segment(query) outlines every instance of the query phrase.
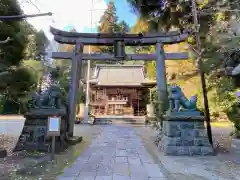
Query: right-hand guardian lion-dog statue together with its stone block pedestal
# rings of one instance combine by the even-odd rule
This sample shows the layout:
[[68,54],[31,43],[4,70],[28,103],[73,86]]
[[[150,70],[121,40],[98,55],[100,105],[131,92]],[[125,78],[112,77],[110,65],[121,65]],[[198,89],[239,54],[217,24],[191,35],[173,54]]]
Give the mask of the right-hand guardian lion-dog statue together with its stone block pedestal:
[[213,155],[204,126],[204,116],[196,108],[197,96],[187,100],[178,86],[169,87],[170,108],[162,128],[159,148],[165,155]]

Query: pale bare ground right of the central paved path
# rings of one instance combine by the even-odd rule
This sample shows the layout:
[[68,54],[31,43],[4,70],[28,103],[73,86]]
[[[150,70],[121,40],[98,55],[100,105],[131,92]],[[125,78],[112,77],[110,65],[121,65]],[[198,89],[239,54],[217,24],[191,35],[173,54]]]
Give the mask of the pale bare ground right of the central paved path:
[[[224,131],[219,129],[217,133]],[[240,143],[233,142],[235,149],[217,156],[165,156],[153,143],[158,134],[156,130],[143,126],[135,128],[135,132],[154,160],[160,161],[168,180],[240,180],[240,166],[232,161],[240,159]],[[215,129],[213,135],[216,135]]]

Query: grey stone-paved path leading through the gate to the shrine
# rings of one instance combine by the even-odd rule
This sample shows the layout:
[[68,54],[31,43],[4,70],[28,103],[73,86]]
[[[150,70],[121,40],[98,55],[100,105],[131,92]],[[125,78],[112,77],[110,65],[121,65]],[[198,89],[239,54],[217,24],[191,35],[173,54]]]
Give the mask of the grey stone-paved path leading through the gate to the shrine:
[[105,126],[57,180],[166,180],[133,128]]

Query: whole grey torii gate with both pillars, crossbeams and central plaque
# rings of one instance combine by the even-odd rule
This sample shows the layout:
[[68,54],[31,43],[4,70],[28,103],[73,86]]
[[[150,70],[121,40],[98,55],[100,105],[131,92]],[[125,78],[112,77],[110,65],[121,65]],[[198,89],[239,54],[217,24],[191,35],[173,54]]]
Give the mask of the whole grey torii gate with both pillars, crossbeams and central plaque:
[[[118,61],[118,60],[156,60],[156,77],[158,101],[161,110],[167,107],[167,80],[165,60],[185,60],[188,53],[164,53],[164,44],[175,44],[185,41],[188,33],[179,32],[157,33],[157,34],[106,34],[106,33],[77,33],[66,32],[50,27],[54,40],[61,44],[75,45],[75,51],[53,52],[53,59],[71,59],[71,86],[69,93],[69,136],[73,135],[73,126],[76,114],[76,95],[79,87],[81,67],[83,60]],[[83,46],[114,46],[114,55],[111,54],[83,54]],[[125,46],[156,46],[154,54],[125,54]]]

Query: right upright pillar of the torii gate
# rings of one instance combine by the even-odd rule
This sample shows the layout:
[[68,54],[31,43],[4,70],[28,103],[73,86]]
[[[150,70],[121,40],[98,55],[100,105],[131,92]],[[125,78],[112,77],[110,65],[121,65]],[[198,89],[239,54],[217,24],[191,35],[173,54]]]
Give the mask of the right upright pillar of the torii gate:
[[156,44],[156,78],[157,78],[157,95],[159,103],[159,113],[163,114],[168,108],[167,98],[167,79],[165,68],[165,55],[163,44],[158,42]]

